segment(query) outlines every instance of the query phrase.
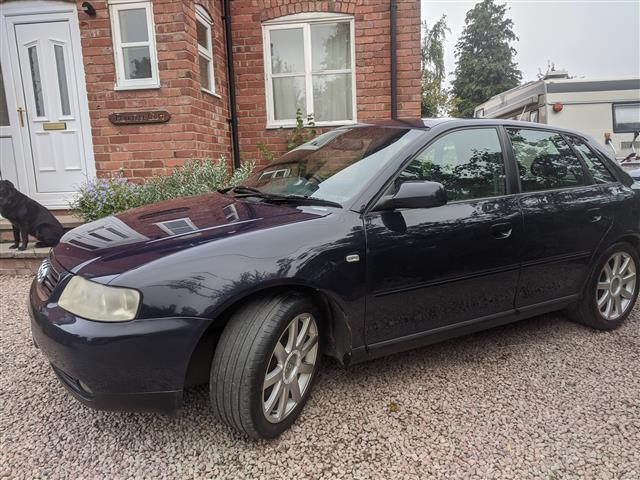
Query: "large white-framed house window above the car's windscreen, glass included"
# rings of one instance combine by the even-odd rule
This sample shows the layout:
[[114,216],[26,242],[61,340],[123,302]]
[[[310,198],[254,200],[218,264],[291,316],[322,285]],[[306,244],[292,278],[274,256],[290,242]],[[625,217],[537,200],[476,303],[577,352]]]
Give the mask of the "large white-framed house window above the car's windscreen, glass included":
[[354,23],[350,15],[305,13],[263,26],[270,127],[356,120]]

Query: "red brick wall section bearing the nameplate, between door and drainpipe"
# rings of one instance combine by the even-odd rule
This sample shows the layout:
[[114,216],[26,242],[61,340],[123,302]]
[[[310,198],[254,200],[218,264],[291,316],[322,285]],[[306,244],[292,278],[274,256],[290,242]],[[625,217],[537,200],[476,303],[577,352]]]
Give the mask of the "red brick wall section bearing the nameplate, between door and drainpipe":
[[[85,14],[77,0],[91,128],[99,176],[122,169],[142,179],[167,172],[188,158],[230,158],[227,78],[221,2],[200,2],[214,20],[216,89],[220,98],[200,90],[194,2],[154,0],[156,46],[161,87],[116,91],[109,8],[92,1],[97,15]],[[113,112],[167,110],[165,124],[113,125]]]

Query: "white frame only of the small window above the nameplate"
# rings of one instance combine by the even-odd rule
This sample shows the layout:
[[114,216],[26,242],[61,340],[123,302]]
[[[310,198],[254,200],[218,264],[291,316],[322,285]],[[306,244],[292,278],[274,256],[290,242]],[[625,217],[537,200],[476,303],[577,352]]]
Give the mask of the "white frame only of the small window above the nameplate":
[[[147,32],[149,39],[146,42],[122,41],[120,35],[120,15],[123,10],[143,8],[147,14]],[[109,0],[109,16],[111,17],[111,35],[113,40],[113,56],[116,64],[115,90],[143,90],[160,88],[160,75],[158,73],[158,52],[156,50],[156,29],[153,20],[153,3],[149,0]],[[126,79],[124,68],[125,47],[149,47],[151,59],[151,78]]]

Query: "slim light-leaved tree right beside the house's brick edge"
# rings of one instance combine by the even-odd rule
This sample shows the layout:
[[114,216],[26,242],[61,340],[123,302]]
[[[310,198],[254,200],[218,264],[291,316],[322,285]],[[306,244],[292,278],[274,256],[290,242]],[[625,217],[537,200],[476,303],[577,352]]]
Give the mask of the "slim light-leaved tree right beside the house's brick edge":
[[427,22],[422,22],[424,37],[422,38],[422,98],[421,113],[423,117],[437,117],[447,109],[449,95],[442,88],[444,80],[444,40],[447,33],[447,16],[431,28]]

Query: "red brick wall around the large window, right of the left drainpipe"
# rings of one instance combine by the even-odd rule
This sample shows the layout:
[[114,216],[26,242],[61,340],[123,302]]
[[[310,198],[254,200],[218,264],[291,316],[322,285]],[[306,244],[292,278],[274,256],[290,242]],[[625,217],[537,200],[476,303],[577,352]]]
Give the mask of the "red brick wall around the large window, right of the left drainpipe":
[[[391,117],[389,0],[234,0],[233,54],[242,159],[260,158],[257,144],[285,150],[288,129],[266,130],[262,22],[301,12],[355,17],[359,121]],[[420,116],[420,2],[398,0],[398,117]]]

